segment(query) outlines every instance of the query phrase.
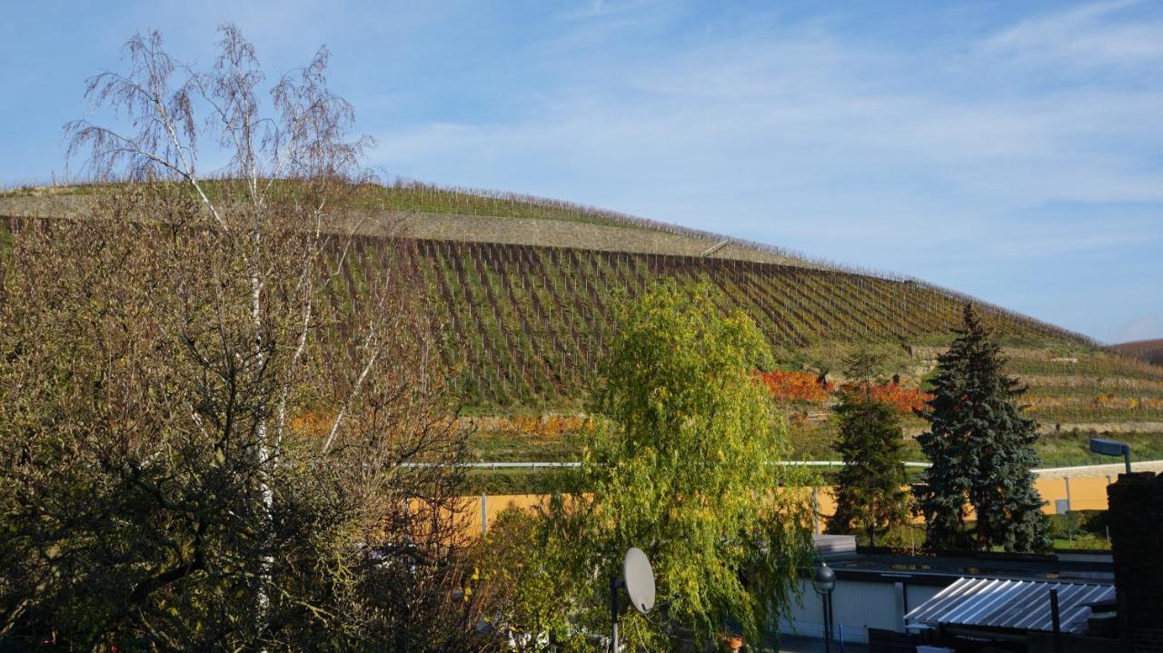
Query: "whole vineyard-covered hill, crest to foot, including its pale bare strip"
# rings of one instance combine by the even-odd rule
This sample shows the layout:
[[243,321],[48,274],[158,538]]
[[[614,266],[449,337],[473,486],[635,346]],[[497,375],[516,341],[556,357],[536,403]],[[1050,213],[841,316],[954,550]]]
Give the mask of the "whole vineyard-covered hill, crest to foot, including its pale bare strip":
[[[81,215],[91,192],[9,192],[0,215]],[[962,306],[975,301],[1006,345],[1009,371],[1030,386],[1046,460],[1091,459],[1092,431],[1163,454],[1163,368],[921,280],[520,195],[401,185],[368,188],[357,201],[361,237],[335,300],[357,296],[364,271],[402,251],[423,280],[442,357],[458,371],[478,460],[576,459],[612,307],[663,280],[719,288],[722,307],[750,315],[780,367],[808,386],[841,380],[844,352],[868,340],[891,352],[902,387],[923,390]],[[834,458],[832,397],[818,395],[776,399],[798,454]],[[915,432],[920,423],[909,416],[906,426]]]

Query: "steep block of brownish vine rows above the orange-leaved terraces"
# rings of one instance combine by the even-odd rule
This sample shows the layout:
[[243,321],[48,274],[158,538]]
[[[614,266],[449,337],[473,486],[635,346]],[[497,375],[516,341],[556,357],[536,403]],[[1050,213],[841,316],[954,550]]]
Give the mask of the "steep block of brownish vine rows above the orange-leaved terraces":
[[[350,288],[336,290],[337,301],[358,295],[359,267],[376,260],[364,253],[374,250],[369,241],[355,247],[344,275]],[[784,349],[855,339],[904,345],[947,338],[959,321],[961,306],[948,295],[835,270],[452,241],[412,241],[405,250],[422,280],[442,357],[457,369],[465,400],[481,406],[582,399],[619,297],[666,279],[716,286],[725,310],[745,311]],[[985,313],[1005,335],[1055,336],[1037,323]]]

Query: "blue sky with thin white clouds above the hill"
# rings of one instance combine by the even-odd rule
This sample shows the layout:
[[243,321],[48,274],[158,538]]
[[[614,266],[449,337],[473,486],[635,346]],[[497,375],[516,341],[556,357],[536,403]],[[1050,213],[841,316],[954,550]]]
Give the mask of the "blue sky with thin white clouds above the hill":
[[[1163,3],[21,2],[0,184],[65,170],[135,30],[271,73],[333,52],[386,178],[516,191],[1163,337]],[[76,168],[76,164],[73,165]]]

